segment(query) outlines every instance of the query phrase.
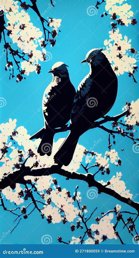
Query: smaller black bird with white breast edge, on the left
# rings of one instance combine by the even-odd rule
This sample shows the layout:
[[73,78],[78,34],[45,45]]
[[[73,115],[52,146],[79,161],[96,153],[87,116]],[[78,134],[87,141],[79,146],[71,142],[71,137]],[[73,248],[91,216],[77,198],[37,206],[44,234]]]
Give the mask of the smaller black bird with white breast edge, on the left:
[[70,120],[76,90],[69,79],[67,67],[63,62],[56,62],[48,72],[52,73],[52,82],[43,94],[44,127],[30,137],[30,140],[41,139],[37,150],[40,156],[51,155],[54,129],[65,126]]

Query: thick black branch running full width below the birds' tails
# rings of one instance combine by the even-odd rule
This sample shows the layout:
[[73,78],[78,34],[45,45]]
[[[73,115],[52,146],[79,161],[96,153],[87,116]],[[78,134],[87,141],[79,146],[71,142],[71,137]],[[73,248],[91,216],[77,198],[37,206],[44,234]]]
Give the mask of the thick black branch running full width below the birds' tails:
[[117,200],[128,204],[129,206],[133,207],[136,209],[139,213],[139,204],[132,201],[129,198],[123,197],[120,194],[116,193],[114,190],[111,188],[107,188],[106,186],[103,186],[101,183],[97,182],[94,179],[94,176],[90,173],[88,174],[81,174],[81,173],[75,173],[75,172],[69,172],[66,171],[62,168],[60,168],[57,165],[53,165],[48,168],[39,168],[39,169],[33,169],[32,171],[30,170],[30,167],[25,167],[23,165],[19,170],[13,172],[12,174],[9,174],[8,176],[4,177],[4,179],[1,180],[0,182],[0,189],[4,189],[8,186],[11,186],[11,188],[16,187],[16,183],[25,183],[24,181],[24,176],[49,176],[52,174],[58,174],[61,176],[65,176],[68,179],[76,179],[76,180],[82,180],[88,183],[89,187],[96,187],[98,189],[98,193],[106,193]]

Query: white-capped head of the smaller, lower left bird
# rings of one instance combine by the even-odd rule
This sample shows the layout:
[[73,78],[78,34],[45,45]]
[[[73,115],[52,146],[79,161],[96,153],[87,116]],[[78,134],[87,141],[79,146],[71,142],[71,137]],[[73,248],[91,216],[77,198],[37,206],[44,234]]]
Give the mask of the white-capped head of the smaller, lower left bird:
[[57,62],[52,66],[52,69],[49,71],[51,72],[54,76],[58,77],[66,77],[69,75],[67,66],[63,62]]

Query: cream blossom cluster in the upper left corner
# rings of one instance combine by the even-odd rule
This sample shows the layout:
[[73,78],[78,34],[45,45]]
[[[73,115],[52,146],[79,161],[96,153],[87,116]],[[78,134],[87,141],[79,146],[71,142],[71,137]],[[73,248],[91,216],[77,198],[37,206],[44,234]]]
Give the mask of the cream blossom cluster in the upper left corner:
[[[18,3],[18,1],[13,0],[2,0],[0,6],[0,10],[3,11],[3,15],[5,14],[4,17],[6,20],[4,34],[6,33],[9,37],[7,42],[7,38],[4,36],[4,48],[7,53],[10,50],[10,54],[13,56],[13,62],[16,60],[15,63],[20,72],[16,76],[17,82],[21,81],[24,75],[29,75],[30,72],[35,71],[37,74],[40,74],[40,62],[45,61],[47,56],[45,47],[48,42],[50,42],[51,47],[55,45],[56,39],[54,38],[58,35],[57,30],[61,22],[61,19],[48,18],[47,21],[40,16],[40,21],[43,24],[43,31],[41,31],[30,20],[30,15],[27,12],[30,5],[24,2],[19,6]],[[48,29],[44,27],[45,21]],[[52,31],[49,29],[52,29]],[[46,39],[45,31],[48,32],[48,39]],[[42,38],[43,32],[45,39]],[[10,39],[12,39],[12,43],[9,43]],[[17,44],[19,50],[13,49],[15,44]],[[13,62],[7,58],[6,71],[10,68],[13,69]],[[13,74],[12,77],[14,77]]]

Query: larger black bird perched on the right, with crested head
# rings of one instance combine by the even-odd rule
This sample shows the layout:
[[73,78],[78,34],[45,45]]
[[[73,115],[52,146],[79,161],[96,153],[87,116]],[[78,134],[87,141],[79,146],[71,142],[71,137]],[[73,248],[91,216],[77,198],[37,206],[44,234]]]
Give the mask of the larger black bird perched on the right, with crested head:
[[116,100],[118,80],[102,50],[91,49],[81,62],[89,64],[90,72],[78,86],[69,135],[54,156],[60,166],[69,165],[79,137],[93,127],[94,121],[104,117]]

